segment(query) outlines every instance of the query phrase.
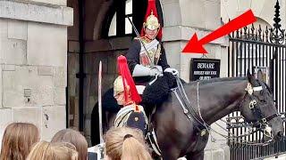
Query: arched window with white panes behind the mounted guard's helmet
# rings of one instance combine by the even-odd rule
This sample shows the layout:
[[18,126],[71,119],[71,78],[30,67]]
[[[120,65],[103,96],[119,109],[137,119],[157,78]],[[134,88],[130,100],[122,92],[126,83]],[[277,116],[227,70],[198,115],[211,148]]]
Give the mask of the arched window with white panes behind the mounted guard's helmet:
[[[103,20],[101,38],[136,36],[128,17],[140,32],[147,10],[147,2],[147,0],[114,0]],[[162,12],[159,0],[156,0],[156,3],[159,6],[157,10]],[[163,15],[159,14],[159,16]],[[160,23],[162,25],[164,21]]]

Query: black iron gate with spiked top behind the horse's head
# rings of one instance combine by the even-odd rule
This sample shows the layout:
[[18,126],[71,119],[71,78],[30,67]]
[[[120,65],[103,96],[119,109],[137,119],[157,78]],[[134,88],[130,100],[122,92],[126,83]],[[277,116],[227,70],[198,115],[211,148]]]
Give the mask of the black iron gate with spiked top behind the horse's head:
[[[286,112],[286,43],[285,30],[280,25],[280,6],[275,5],[273,28],[262,29],[241,28],[231,33],[228,47],[228,76],[247,76],[250,71],[261,70],[265,73],[265,81],[273,91],[273,98],[278,112],[284,115]],[[240,112],[228,116],[228,131],[234,135],[248,133],[250,128],[244,123]],[[255,129],[254,129],[255,130]],[[285,131],[286,132],[286,131]],[[231,160],[259,159],[265,156],[278,155],[286,152],[286,134],[280,142],[268,146],[250,145],[263,142],[262,133],[256,132],[241,139],[229,140],[231,148]]]

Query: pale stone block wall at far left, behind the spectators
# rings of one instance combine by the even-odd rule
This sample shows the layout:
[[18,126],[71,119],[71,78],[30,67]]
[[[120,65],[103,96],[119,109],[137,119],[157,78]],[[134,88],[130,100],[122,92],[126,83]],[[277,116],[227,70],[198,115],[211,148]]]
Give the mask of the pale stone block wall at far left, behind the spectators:
[[12,122],[36,124],[42,140],[66,126],[66,0],[0,1],[0,140]]

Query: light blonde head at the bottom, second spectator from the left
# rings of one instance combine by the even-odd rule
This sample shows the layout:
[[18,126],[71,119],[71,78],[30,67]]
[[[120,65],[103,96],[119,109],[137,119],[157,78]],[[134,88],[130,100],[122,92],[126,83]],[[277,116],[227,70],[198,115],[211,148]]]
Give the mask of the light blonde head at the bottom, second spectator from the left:
[[27,160],[78,160],[76,148],[68,142],[38,142],[29,152]]

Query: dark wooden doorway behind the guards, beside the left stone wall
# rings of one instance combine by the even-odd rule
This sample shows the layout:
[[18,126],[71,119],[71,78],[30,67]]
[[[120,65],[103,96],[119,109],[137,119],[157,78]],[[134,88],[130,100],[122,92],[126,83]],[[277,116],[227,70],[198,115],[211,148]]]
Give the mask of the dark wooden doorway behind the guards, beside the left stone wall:
[[[116,57],[129,48],[132,35],[120,35],[108,37],[103,34],[109,26],[110,19],[114,16],[114,8],[118,9],[118,4],[125,3],[125,0],[86,0],[81,2],[84,8],[83,19],[80,22],[80,4],[78,0],[69,0],[68,4],[75,9],[75,25],[69,29],[69,52],[68,52],[68,119],[69,126],[80,129],[79,122],[84,126],[80,129],[85,133],[87,139],[90,135],[90,116],[92,108],[97,102],[97,68],[101,60],[103,62],[103,92],[109,88],[117,76]],[[134,11],[142,10],[143,1],[133,1],[136,4]],[[147,1],[146,1],[147,2]],[[145,2],[145,3],[146,3]],[[116,3],[116,4],[115,4]],[[116,5],[116,7],[115,7]],[[81,8],[81,11],[82,11]],[[118,11],[117,11],[118,12]],[[138,17],[144,16],[144,13],[137,13],[132,16],[135,25],[139,22]],[[106,20],[109,19],[109,20]],[[83,26],[80,33],[80,23]],[[140,22],[142,23],[142,22]],[[107,30],[108,31],[108,30]],[[108,32],[107,32],[108,33]],[[80,34],[82,35],[80,44]],[[80,49],[81,46],[81,49]],[[82,56],[81,68],[83,74],[80,73],[80,56]],[[80,106],[80,81],[77,76],[83,79],[82,83],[82,99],[83,104]],[[79,107],[80,106],[80,107]],[[80,118],[80,109],[82,116]]]

